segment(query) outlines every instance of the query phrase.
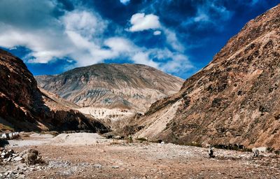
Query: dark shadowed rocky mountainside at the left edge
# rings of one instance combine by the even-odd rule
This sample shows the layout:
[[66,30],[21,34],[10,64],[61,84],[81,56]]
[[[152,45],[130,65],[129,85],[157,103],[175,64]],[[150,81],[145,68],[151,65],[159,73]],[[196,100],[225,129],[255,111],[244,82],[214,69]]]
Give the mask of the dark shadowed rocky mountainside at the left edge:
[[0,84],[0,131],[108,131],[101,122],[73,110],[75,105],[39,89],[22,60],[1,49]]

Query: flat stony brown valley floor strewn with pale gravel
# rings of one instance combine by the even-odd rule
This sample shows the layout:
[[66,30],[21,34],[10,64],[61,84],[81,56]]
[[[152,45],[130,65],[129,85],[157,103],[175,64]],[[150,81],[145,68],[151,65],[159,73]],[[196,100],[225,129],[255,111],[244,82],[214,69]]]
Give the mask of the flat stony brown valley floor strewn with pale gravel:
[[[101,137],[91,137],[92,143],[79,141],[78,145],[71,140],[70,145],[65,139],[71,137],[63,136],[60,141],[25,138],[36,142],[30,146],[24,141],[10,141],[7,148],[36,148],[41,152],[47,164],[43,170],[28,171],[26,178],[280,178],[280,157],[272,154],[255,158],[251,152],[216,149],[216,158],[209,159],[206,148]],[[4,164],[0,173],[18,165]]]

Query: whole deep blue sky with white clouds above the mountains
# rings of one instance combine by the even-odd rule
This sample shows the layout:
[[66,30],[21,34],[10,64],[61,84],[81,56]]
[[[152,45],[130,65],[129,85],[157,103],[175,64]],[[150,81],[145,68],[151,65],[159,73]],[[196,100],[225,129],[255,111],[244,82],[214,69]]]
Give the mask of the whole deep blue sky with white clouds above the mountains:
[[183,79],[280,0],[0,0],[0,48],[34,75],[146,64]]

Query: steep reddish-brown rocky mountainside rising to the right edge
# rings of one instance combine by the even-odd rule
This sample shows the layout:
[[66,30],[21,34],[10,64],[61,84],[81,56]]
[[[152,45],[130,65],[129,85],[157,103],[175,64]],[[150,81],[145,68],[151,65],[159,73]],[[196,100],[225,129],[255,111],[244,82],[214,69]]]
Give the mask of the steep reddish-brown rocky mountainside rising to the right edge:
[[[173,143],[280,148],[280,5],[249,21],[180,92],[125,127]],[[130,129],[130,130],[129,130]]]

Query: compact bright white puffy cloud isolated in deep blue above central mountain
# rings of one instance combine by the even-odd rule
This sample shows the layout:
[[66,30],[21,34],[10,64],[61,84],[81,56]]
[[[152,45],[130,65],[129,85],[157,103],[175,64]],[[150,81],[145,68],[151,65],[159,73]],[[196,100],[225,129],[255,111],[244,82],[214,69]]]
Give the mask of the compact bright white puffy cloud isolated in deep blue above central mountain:
[[130,31],[144,31],[148,29],[158,29],[160,28],[160,21],[157,15],[145,13],[136,13],[132,15],[130,19]]

